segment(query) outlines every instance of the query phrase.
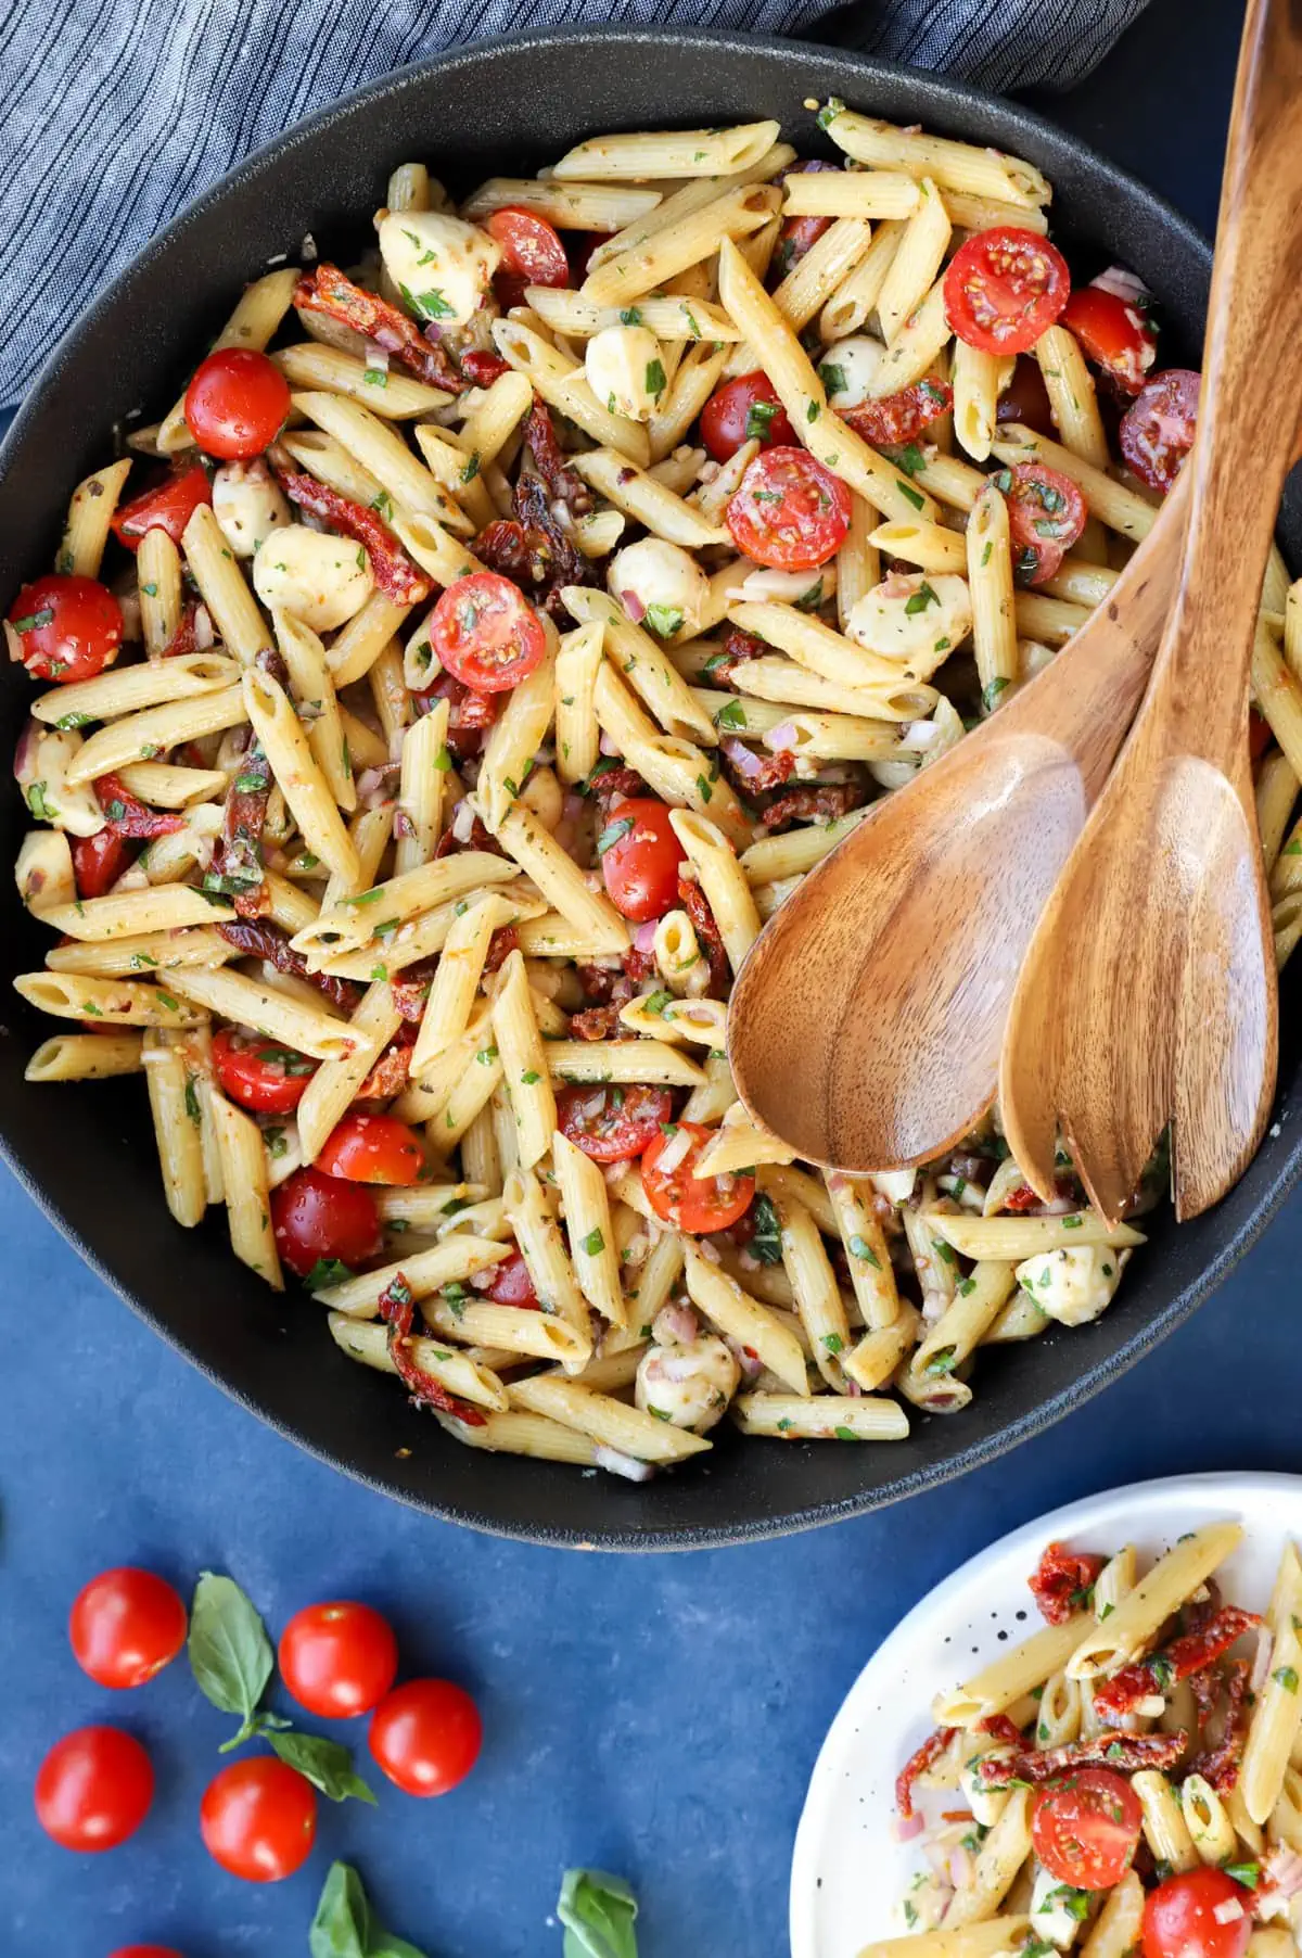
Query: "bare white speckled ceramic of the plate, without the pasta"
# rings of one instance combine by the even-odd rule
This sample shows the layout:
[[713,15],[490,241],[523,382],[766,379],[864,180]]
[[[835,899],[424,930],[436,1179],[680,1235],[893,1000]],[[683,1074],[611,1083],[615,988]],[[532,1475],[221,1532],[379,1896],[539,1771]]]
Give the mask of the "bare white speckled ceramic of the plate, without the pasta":
[[791,1958],[856,1958],[899,1936],[895,1901],[920,1868],[891,1833],[895,1776],[932,1731],[930,1703],[1040,1623],[1026,1578],[1053,1539],[1155,1557],[1186,1529],[1237,1517],[1226,1596],[1261,1609],[1286,1535],[1302,1535],[1302,1476],[1192,1474],[1114,1488],[1053,1510],[938,1584],[873,1653],[832,1721],[805,1797],[791,1862]]

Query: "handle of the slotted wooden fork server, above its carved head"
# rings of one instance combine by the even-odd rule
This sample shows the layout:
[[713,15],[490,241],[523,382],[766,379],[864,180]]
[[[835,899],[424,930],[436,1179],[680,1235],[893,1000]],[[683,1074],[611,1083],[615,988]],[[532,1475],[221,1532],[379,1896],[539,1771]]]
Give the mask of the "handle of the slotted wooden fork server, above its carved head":
[[1186,464],[1188,542],[1157,676],[1175,750],[1228,773],[1237,773],[1257,591],[1300,396],[1302,4],[1249,0]]

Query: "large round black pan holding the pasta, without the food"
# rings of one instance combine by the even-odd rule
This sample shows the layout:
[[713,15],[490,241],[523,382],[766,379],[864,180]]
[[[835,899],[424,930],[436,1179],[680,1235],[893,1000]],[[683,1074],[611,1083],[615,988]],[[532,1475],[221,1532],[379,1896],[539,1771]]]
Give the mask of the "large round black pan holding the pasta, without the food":
[[[1167,360],[1198,362],[1210,255],[1175,211],[1100,157],[1008,102],[832,49],[711,33],[572,31],[488,43],[366,88],[313,116],[194,204],[104,292],[57,349],[0,458],[0,601],[51,562],[70,484],[102,464],[114,423],[159,413],[241,280],[311,231],[358,243],[388,170],[427,157],[454,186],[529,174],[599,129],[777,116],[805,153],[830,153],[803,110],[838,94],[893,121],[1034,159],[1055,186],[1055,237],[1087,272],[1118,258],[1143,274],[1169,325]],[[1284,548],[1302,556],[1302,507]],[[1292,548],[1290,548],[1292,546]],[[0,677],[12,750],[29,681]],[[0,795],[0,862],[23,832]],[[8,899],[6,975],[41,963],[47,934]],[[1085,920],[1089,928],[1089,920]],[[818,975],[809,975],[816,987]],[[6,989],[8,991],[8,989]],[[1124,1012],[1124,1001],[1116,1002]],[[1302,1167],[1302,1134],[1267,1138],[1239,1187],[1196,1224],[1151,1220],[1151,1241],[1100,1322],[985,1353],[967,1414],[912,1416],[891,1447],[740,1441],[724,1423],[703,1467],[632,1486],[458,1447],[392,1378],[331,1343],[302,1292],[278,1298],[233,1259],[221,1214],[178,1230],[164,1212],[139,1083],[29,1087],[49,1034],[16,995],[0,1036],[0,1142],[10,1167],[121,1296],[209,1378],[349,1474],[454,1521],[540,1543],[689,1549],[769,1537],[895,1502],[989,1461],[1098,1392],[1198,1306],[1275,1214]],[[1280,1093],[1298,1077],[1298,1014],[1284,1012]],[[104,1337],[112,1339],[106,1320]],[[399,1451],[409,1451],[399,1459]]]

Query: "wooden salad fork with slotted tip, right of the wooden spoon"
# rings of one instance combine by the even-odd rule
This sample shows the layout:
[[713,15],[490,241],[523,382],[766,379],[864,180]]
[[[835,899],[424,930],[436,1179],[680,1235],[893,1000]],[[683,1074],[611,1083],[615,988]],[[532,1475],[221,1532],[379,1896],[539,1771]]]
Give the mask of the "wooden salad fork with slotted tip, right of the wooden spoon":
[[1167,1122],[1177,1218],[1214,1204],[1275,1093],[1247,705],[1300,394],[1302,4],[1249,0],[1175,603],[1118,768],[1032,936],[1000,1057],[1004,1134],[1028,1181],[1053,1194],[1061,1128],[1108,1222]]

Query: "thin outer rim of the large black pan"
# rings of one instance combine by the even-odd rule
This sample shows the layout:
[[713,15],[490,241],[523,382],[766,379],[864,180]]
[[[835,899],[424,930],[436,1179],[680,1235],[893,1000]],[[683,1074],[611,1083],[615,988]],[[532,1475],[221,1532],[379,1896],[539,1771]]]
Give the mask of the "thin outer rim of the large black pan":
[[[1032,135],[1040,147],[1040,155],[1047,153],[1059,159],[1085,161],[1091,172],[1110,182],[1132,208],[1145,208],[1147,213],[1161,223],[1163,231],[1186,249],[1190,260],[1202,274],[1210,268],[1208,241],[1165,198],[1149,190],[1147,184],[1139,182],[1128,170],[1122,170],[1110,159],[1102,157],[1089,143],[1069,135],[1036,110],[1028,110],[1004,96],[989,94],[944,74],[881,61],[852,47],[838,47],[834,43],[781,39],[775,35],[722,33],[711,27],[656,29],[595,23],[587,27],[566,25],[519,35],[497,35],[474,41],[466,47],[454,47],[444,53],[431,55],[395,70],[394,74],[378,76],[362,88],[341,96],[337,102],[321,106],[311,116],[305,116],[290,129],[260,145],[235,164],[235,168],[225,172],[208,190],[194,198],[182,211],[178,211],[178,215],[164,225],[157,237],[147,241],[147,245],[88,302],[70,327],[61,335],[59,343],[51,349],[47,360],[23,396],[18,413],[14,415],[4,444],[0,444],[0,480],[8,478],[16,452],[27,439],[29,425],[41,415],[47,392],[59,386],[61,370],[72,356],[72,350],[80,347],[80,343],[92,335],[96,327],[114,317],[125,288],[147,272],[153,260],[166,253],[178,237],[186,235],[194,227],[206,225],[213,213],[221,210],[233,190],[256,180],[262,172],[274,168],[280,159],[294,153],[294,149],[302,143],[313,141],[333,123],[347,121],[358,112],[358,108],[374,106],[384,100],[401,100],[411,90],[423,88],[433,78],[444,80],[450,74],[454,76],[458,70],[480,70],[486,65],[491,67],[493,59],[503,53],[523,53],[531,47],[568,47],[576,53],[585,53],[591,51],[593,43],[617,49],[715,49],[728,57],[764,53],[766,57],[777,57],[793,70],[797,70],[803,61],[826,57],[842,67],[854,69],[865,90],[871,90],[875,82],[907,82],[924,102],[940,106],[942,112],[946,106],[953,104],[963,110],[969,119],[975,117],[987,125],[1000,125],[1008,137],[1014,133],[1018,139]],[[793,80],[797,76],[793,74]],[[670,119],[674,117],[670,116]],[[993,133],[999,133],[999,129]],[[1053,168],[1051,163],[1049,168]],[[1257,1198],[1251,1214],[1230,1232],[1202,1271],[1181,1286],[1165,1306],[1153,1312],[1145,1322],[1138,1324],[1120,1347],[1104,1353],[1093,1365],[1083,1367],[1063,1388],[1044,1400],[1038,1400],[1020,1416],[1002,1422],[991,1431],[975,1435],[957,1451],[938,1455],[922,1468],[901,1472],[885,1482],[867,1484],[840,1498],[807,1502],[793,1510],[773,1510],[752,1519],[730,1519],[724,1523],[699,1521],[685,1527],[650,1527],[638,1531],[636,1535],[630,1535],[619,1523],[613,1523],[609,1529],[587,1531],[580,1531],[564,1523],[554,1527],[513,1523],[501,1515],[484,1514],[472,1506],[431,1500],[431,1496],[423,1490],[401,1482],[397,1474],[372,1472],[368,1467],[345,1461],[329,1445],[305,1433],[294,1418],[276,1412],[266,1402],[241,1388],[235,1378],[196,1353],[190,1341],[163,1316],[159,1308],[149,1304],[141,1294],[133,1292],[127,1282],[114,1273],[108,1261],[86,1239],[82,1226],[67,1214],[61,1200],[41,1185],[35,1171],[27,1165],[22,1128],[18,1124],[6,1124],[0,1128],[0,1159],[8,1165],[43,1214],[55,1224],[61,1235],[72,1245],[78,1257],[137,1314],[137,1318],[159,1333],[174,1351],[182,1353],[190,1365],[194,1365],[208,1380],[217,1384],[231,1400],[255,1414],[276,1433],[296,1443],[307,1455],[313,1455],[331,1468],[349,1474],[352,1480],[395,1498],[409,1508],[421,1510],[444,1521],[464,1523],[488,1535],[548,1547],[638,1553],[719,1549],[734,1543],[760,1543],[846,1521],[848,1517],[887,1508],[907,1496],[938,1488],[942,1482],[967,1474],[973,1468],[981,1468],[999,1455],[1018,1447],[1022,1441],[1042,1433],[1143,1359],[1210,1296],[1239,1257],[1251,1249],[1251,1245],[1275,1220],[1296,1183],[1302,1179],[1302,1134],[1298,1136],[1298,1142],[1282,1153],[1269,1187]]]

